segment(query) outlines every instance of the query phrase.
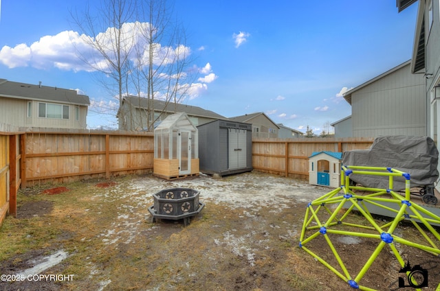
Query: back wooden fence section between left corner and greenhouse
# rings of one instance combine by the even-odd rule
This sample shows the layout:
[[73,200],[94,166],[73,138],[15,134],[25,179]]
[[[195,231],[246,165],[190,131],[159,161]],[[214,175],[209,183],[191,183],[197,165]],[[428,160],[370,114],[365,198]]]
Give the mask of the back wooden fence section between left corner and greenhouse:
[[151,132],[26,132],[23,187],[153,170]]

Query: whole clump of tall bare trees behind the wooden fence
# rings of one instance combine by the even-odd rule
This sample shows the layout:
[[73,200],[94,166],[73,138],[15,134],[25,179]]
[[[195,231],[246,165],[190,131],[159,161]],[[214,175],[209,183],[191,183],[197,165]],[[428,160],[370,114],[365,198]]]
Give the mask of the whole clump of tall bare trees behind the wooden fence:
[[[154,115],[154,100],[177,104],[193,80],[185,30],[173,21],[166,0],[102,1],[95,14],[89,7],[83,14],[71,12],[90,47],[77,49],[78,56],[91,71],[100,72],[100,84],[118,96],[120,128],[152,130],[159,118]],[[126,96],[137,97],[136,104],[123,106],[133,103]],[[146,108],[141,98],[146,98]],[[137,112],[134,105],[144,112]]]

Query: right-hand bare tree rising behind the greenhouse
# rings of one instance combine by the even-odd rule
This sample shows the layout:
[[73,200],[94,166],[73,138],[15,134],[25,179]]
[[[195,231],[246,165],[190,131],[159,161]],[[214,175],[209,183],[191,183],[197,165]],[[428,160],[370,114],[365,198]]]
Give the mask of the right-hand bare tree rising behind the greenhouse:
[[[186,46],[186,31],[173,21],[173,7],[164,0],[143,1],[141,7],[140,18],[148,19],[148,24],[140,30],[143,41],[137,47],[136,75],[144,80],[138,84],[146,85],[146,128],[152,130],[160,117],[154,115],[154,100],[164,101],[164,110],[175,112],[194,76],[188,70],[192,59]],[[167,108],[168,104],[174,104],[174,108]]]

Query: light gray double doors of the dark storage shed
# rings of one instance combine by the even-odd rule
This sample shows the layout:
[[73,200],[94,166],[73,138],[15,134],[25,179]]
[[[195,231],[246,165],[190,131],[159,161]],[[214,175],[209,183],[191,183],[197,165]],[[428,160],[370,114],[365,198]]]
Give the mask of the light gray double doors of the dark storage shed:
[[246,167],[246,130],[229,128],[228,134],[228,169]]

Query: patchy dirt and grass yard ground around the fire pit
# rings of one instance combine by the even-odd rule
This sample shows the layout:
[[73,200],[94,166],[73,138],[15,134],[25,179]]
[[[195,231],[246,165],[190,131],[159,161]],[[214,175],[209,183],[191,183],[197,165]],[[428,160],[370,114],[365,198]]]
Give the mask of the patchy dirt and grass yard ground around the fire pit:
[[[2,277],[0,290],[353,289],[300,248],[308,203],[331,188],[258,172],[174,181],[129,176],[57,186],[20,191],[17,218],[3,222],[0,274],[9,276]],[[152,195],[177,187],[200,191],[206,206],[187,226],[182,220],[152,222]],[[375,217],[377,223],[387,220]],[[366,222],[356,213],[347,221]],[[406,222],[395,231],[423,242],[418,233]],[[361,236],[327,237],[352,279],[380,244]],[[395,245],[405,261],[428,272],[428,288],[422,290],[435,290],[439,257]],[[325,235],[305,246],[344,274]],[[398,288],[400,268],[385,246],[358,283],[373,290],[414,290]]]

